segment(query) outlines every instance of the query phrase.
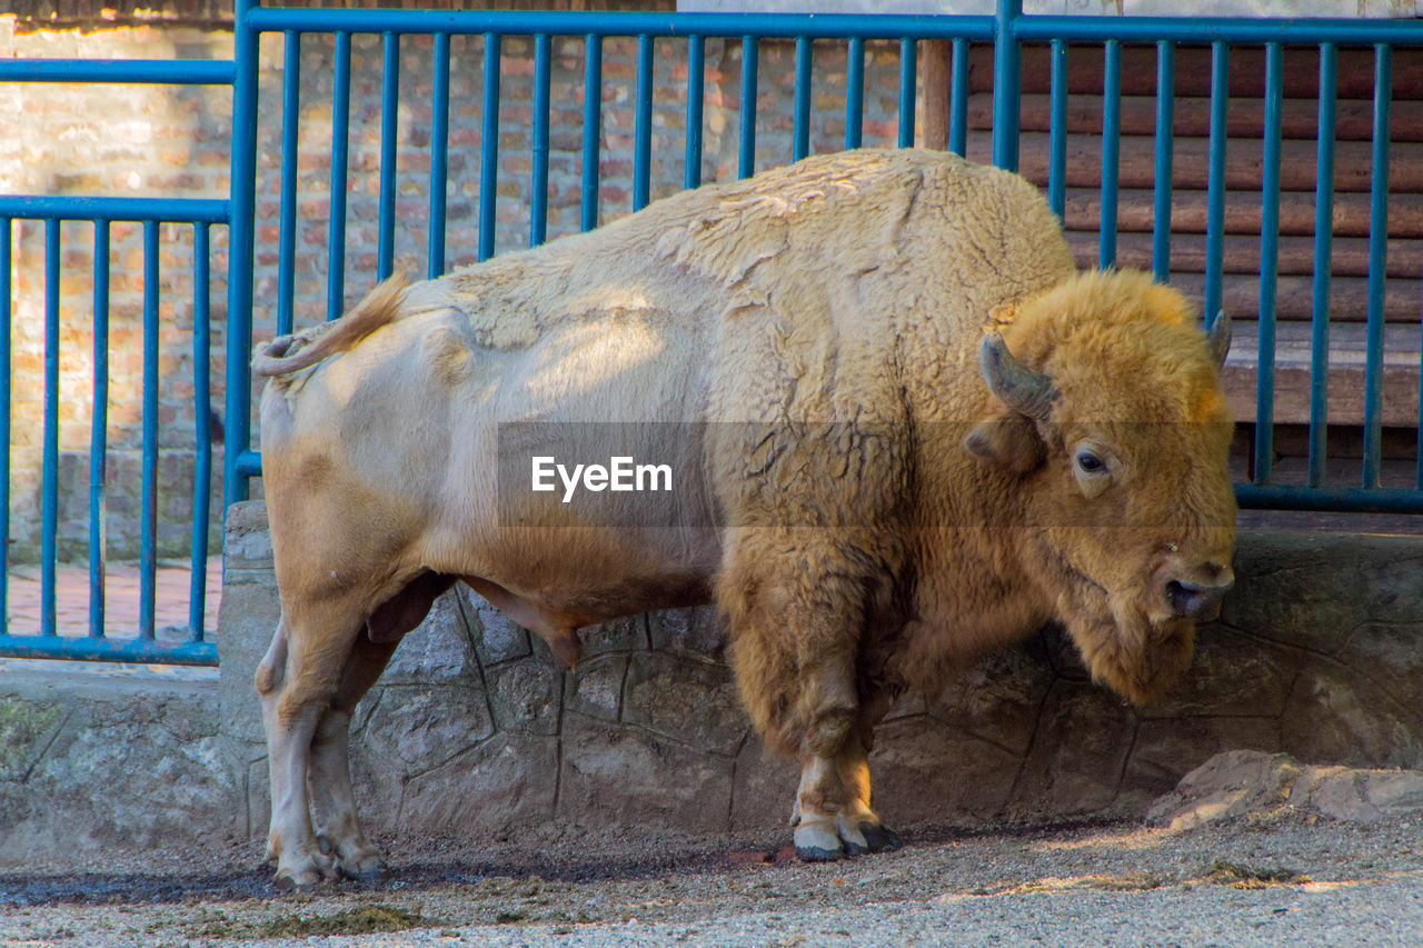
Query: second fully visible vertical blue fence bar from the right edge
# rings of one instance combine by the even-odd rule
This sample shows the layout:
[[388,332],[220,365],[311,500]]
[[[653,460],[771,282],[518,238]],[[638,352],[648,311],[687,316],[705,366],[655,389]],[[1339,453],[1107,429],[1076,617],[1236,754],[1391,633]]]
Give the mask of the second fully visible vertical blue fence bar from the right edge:
[[1319,44],[1319,144],[1315,159],[1315,279],[1309,325],[1309,487],[1325,483],[1329,437],[1329,285],[1333,259],[1333,152],[1338,54]]

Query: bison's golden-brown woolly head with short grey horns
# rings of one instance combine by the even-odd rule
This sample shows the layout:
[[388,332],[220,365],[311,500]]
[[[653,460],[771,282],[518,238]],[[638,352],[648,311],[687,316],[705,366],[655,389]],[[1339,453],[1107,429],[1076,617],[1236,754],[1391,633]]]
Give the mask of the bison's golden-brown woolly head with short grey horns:
[[995,399],[965,447],[1010,471],[1025,565],[1093,678],[1133,702],[1191,662],[1234,582],[1232,420],[1210,335],[1143,273],[1084,273],[1023,303],[980,366]]

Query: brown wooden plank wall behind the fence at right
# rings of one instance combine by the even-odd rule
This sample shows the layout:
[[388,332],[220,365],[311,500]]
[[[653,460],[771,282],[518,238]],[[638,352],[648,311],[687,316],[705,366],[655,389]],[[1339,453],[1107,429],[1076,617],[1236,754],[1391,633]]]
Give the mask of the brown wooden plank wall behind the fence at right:
[[[925,51],[931,147],[946,142],[951,51]],[[1047,188],[1049,56],[1023,48],[1019,171]],[[1155,185],[1155,47],[1123,48],[1121,188],[1117,212],[1118,266],[1151,266]],[[1363,320],[1368,317],[1369,162],[1373,121],[1373,51],[1340,48],[1335,152],[1331,317],[1332,424],[1363,417]],[[1097,263],[1101,215],[1103,47],[1069,50],[1064,226],[1080,266]],[[1313,47],[1284,54],[1284,142],[1276,315],[1276,423],[1308,423],[1309,319],[1313,306],[1315,164],[1319,57]],[[1175,51],[1175,120],[1171,211],[1171,282],[1201,302],[1205,288],[1205,198],[1210,147],[1208,47]],[[1237,47],[1229,60],[1224,306],[1237,319],[1228,389],[1242,420],[1254,420],[1255,325],[1259,312],[1259,228],[1265,53]],[[993,51],[969,53],[968,157],[992,152]],[[941,131],[943,130],[943,131]],[[939,137],[942,135],[942,137]],[[936,138],[939,137],[939,138]],[[1419,409],[1419,317],[1423,309],[1423,50],[1395,50],[1390,111],[1389,242],[1385,313],[1387,343],[1385,423],[1416,427]]]

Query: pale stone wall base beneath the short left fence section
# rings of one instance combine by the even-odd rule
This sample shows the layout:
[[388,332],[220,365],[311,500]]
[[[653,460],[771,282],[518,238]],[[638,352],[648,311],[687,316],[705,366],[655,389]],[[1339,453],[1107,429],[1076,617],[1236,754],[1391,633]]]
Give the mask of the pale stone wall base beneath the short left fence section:
[[216,685],[0,660],[0,870],[102,868],[245,828]]

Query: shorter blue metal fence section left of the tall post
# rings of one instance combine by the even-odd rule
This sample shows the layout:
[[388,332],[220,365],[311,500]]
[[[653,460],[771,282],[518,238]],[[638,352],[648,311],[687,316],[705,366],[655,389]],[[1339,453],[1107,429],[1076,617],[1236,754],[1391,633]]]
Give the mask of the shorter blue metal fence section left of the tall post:
[[[202,64],[203,67],[211,64]],[[26,75],[10,70],[14,78],[44,81],[55,75],[37,70]],[[124,70],[102,75],[124,74]],[[142,70],[129,74],[154,75]],[[162,71],[165,81],[209,81],[208,68],[182,73]],[[115,80],[118,81],[118,80]],[[11,333],[11,221],[44,222],[44,420],[43,474],[40,485],[40,628],[37,635],[14,635],[9,628],[10,569],[0,572],[0,656],[67,658],[112,662],[164,662],[179,665],[215,665],[216,646],[203,628],[205,576],[208,559],[208,484],[212,471],[209,438],[209,232],[229,223],[226,201],[181,198],[61,198],[0,196],[0,299],[4,299],[3,352],[0,364],[10,366]],[[58,632],[58,474],[60,474],[60,223],[90,221],[94,229],[94,416],[90,441],[90,537],[88,537],[88,633],[64,636]],[[141,222],[144,232],[144,302],[142,302],[142,487],[139,510],[139,619],[135,636],[110,639],[105,635],[105,567],[108,562],[105,518],[107,409],[108,409],[108,290],[110,229],[114,222]],[[159,641],[155,616],[158,569],[158,360],[159,360],[159,223],[188,225],[194,229],[194,416],[196,420],[196,471],[194,478],[194,528],[188,591],[189,618],[185,641]],[[0,386],[0,443],[10,443],[11,386],[9,372]],[[10,544],[10,453],[0,453],[0,541]]]

